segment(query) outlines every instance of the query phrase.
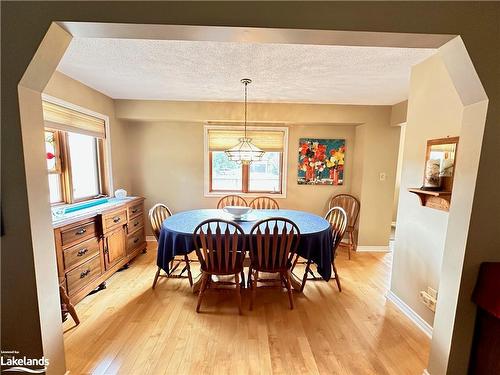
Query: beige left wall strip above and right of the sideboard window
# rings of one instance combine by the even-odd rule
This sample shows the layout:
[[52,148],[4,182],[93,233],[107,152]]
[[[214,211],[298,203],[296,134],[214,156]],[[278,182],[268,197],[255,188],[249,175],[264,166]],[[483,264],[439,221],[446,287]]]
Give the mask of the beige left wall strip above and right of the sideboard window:
[[127,169],[127,158],[124,157],[126,150],[124,127],[115,117],[113,99],[57,71],[43,92],[109,117],[114,187],[115,190],[117,187],[130,190],[130,171]]

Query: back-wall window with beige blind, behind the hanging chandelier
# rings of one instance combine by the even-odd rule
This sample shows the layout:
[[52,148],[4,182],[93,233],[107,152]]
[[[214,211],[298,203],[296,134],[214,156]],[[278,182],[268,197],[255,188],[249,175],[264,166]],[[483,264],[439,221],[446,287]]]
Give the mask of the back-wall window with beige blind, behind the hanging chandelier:
[[238,143],[243,131],[235,126],[206,126],[208,149],[208,194],[217,193],[284,193],[286,128],[248,130],[252,142],[265,151],[262,160],[240,165],[228,159],[224,150]]

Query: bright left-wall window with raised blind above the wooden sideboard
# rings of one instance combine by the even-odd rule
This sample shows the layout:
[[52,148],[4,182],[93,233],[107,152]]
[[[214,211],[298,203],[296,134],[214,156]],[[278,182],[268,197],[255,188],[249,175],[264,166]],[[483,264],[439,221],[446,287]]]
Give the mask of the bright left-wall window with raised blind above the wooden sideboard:
[[43,102],[43,109],[50,203],[105,194],[104,120],[49,102]]

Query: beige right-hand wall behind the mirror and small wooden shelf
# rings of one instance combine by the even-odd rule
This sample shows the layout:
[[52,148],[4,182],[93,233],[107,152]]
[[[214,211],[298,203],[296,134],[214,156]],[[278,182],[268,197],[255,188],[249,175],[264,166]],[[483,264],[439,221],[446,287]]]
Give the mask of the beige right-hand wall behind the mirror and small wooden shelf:
[[391,291],[431,325],[434,314],[418,296],[439,287],[449,214],[422,207],[407,189],[422,185],[427,140],[460,135],[461,122],[462,103],[441,57],[413,67]]

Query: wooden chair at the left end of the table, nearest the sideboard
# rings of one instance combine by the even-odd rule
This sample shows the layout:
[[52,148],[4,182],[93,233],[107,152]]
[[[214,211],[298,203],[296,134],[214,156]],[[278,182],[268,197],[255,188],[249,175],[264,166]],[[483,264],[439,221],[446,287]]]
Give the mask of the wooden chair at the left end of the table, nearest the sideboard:
[[[164,205],[163,203],[157,203],[149,210],[149,222],[151,224],[151,228],[153,229],[153,234],[156,237],[156,241],[160,239],[160,231],[161,226],[166,218],[172,216],[172,211]],[[181,270],[180,274],[174,274],[175,270],[181,265],[185,263],[184,268]],[[191,267],[189,265],[190,260],[186,255],[184,256],[176,256],[170,262],[170,269],[166,275],[160,275],[161,268],[158,267],[156,270],[155,278],[153,280],[153,289],[156,287],[156,283],[158,282],[158,278],[162,277],[170,277],[170,278],[185,278],[183,276],[184,271],[187,271],[187,278],[189,279],[189,285],[193,286],[193,276],[191,275]]]

